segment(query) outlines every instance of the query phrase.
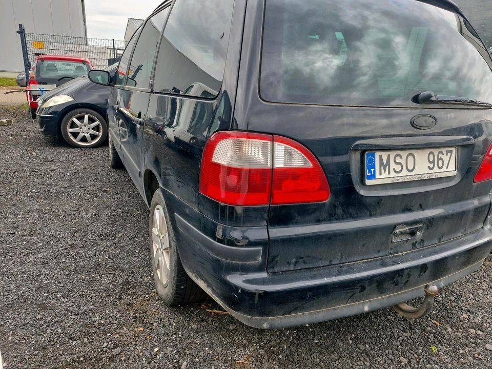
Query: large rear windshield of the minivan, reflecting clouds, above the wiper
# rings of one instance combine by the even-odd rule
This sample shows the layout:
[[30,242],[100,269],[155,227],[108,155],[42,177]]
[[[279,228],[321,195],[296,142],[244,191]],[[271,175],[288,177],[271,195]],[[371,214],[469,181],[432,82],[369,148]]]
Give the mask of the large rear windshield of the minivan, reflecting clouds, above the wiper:
[[487,49],[417,0],[267,0],[260,93],[276,103],[416,106],[424,91],[492,103]]

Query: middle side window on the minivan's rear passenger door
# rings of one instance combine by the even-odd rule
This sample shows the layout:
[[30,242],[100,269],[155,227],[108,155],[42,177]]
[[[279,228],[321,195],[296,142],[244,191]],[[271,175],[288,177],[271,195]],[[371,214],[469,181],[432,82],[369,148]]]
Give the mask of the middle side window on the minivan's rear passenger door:
[[154,15],[147,21],[144,29],[142,29],[138,37],[137,46],[135,46],[135,51],[133,52],[126,85],[149,88],[157,44],[169,14],[169,9],[168,7]]

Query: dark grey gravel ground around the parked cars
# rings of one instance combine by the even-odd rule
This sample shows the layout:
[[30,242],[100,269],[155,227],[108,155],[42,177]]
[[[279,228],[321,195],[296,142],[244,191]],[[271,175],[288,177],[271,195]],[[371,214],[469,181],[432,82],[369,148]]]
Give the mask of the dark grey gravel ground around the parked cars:
[[170,308],[154,293],[148,209],[107,148],[47,140],[25,110],[0,118],[14,119],[0,127],[4,367],[492,368],[492,257],[420,321],[385,309],[259,331],[201,304]]

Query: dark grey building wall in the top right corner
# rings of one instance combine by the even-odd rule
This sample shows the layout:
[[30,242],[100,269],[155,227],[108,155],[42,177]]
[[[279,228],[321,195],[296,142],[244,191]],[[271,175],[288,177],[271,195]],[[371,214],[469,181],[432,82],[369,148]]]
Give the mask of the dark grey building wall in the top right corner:
[[480,34],[492,47],[492,0],[454,0]]

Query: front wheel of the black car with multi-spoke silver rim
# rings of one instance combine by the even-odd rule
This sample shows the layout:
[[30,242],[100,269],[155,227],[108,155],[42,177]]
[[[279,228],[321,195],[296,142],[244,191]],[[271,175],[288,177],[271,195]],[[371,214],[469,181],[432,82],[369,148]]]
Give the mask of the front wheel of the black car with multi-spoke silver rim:
[[103,144],[108,136],[108,124],[94,110],[74,109],[61,121],[61,135],[67,144],[76,148],[92,149]]

